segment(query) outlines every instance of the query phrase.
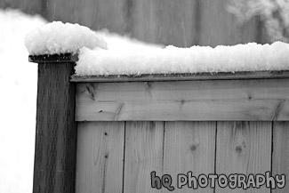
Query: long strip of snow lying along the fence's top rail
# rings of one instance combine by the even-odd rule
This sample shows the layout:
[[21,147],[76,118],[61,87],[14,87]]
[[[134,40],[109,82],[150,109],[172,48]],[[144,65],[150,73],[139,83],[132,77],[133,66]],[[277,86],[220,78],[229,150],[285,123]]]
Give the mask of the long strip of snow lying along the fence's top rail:
[[165,49],[82,48],[77,76],[288,70],[289,44],[237,44]]

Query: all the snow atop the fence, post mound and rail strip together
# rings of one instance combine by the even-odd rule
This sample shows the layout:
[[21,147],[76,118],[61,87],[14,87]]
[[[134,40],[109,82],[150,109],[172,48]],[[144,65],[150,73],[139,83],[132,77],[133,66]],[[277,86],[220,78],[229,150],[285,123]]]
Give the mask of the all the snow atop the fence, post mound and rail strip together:
[[[107,41],[101,34],[108,37]],[[78,24],[54,21],[28,34],[25,43],[29,54],[33,55],[78,52],[77,76],[289,69],[289,44],[282,42],[162,48],[107,32],[93,32]]]

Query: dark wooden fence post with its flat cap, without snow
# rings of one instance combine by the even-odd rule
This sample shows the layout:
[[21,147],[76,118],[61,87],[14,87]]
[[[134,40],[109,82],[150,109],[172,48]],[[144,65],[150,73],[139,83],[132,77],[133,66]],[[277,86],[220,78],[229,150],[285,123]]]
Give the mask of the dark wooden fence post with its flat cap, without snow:
[[73,54],[29,56],[38,63],[34,193],[74,193],[76,179]]

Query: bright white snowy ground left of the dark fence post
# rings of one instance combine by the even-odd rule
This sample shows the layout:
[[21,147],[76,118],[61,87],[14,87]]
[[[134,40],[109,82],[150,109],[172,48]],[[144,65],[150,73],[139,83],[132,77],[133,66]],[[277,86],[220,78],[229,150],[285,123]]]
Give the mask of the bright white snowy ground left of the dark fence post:
[[26,34],[46,21],[0,9],[0,192],[31,193],[36,131],[37,65]]

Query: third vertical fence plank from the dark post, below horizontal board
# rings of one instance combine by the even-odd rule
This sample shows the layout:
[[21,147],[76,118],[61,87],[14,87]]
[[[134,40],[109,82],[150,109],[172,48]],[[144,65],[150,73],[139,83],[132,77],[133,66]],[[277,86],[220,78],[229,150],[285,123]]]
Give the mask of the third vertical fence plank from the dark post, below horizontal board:
[[177,175],[214,173],[215,122],[165,122],[164,173],[173,178],[176,192],[213,192],[213,189],[177,189]]

